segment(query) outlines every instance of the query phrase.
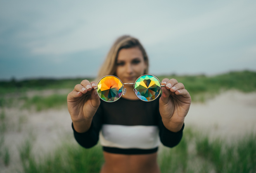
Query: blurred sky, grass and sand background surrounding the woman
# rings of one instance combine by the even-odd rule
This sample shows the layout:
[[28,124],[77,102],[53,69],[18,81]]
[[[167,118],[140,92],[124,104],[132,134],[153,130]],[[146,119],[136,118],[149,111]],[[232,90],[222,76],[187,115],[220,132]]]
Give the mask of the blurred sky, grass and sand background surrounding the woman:
[[192,104],[162,173],[256,172],[256,1],[0,0],[0,172],[98,173],[74,140],[67,94],[93,80],[115,39],[137,37],[149,73]]

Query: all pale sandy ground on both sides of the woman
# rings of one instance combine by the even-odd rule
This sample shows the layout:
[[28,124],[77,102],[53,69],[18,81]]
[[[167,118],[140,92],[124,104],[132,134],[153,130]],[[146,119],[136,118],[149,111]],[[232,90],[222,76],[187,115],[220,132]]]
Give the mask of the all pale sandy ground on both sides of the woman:
[[[28,110],[5,109],[7,130],[4,145],[10,150],[10,165],[3,165],[3,173],[16,172],[19,168],[19,146],[29,137],[34,137],[33,153],[49,153],[63,140],[75,142],[71,119],[66,108],[29,112]],[[211,136],[234,137],[247,132],[256,132],[256,93],[228,91],[206,103],[192,103],[185,119],[185,127],[192,126]]]

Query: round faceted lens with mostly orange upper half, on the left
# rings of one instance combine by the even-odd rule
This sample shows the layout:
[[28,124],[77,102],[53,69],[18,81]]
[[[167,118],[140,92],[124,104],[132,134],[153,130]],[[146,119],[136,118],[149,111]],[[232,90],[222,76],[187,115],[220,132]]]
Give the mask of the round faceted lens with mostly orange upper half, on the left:
[[99,97],[106,102],[114,102],[123,94],[123,83],[116,76],[105,76],[97,84]]

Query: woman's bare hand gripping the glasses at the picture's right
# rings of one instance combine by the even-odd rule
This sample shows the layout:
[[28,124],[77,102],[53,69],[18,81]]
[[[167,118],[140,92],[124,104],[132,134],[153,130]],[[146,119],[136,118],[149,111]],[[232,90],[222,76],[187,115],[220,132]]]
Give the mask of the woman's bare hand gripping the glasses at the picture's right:
[[183,83],[176,79],[164,78],[161,82],[162,96],[159,99],[159,111],[164,126],[172,132],[178,132],[189,112],[191,97]]

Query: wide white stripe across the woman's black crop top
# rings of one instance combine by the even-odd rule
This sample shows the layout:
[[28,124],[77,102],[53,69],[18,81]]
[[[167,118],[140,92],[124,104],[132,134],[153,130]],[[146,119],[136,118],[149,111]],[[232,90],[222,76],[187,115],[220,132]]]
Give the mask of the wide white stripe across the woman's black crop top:
[[152,149],[160,143],[157,126],[104,124],[99,137],[102,146],[123,149]]

